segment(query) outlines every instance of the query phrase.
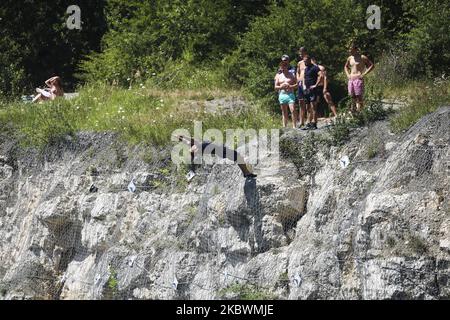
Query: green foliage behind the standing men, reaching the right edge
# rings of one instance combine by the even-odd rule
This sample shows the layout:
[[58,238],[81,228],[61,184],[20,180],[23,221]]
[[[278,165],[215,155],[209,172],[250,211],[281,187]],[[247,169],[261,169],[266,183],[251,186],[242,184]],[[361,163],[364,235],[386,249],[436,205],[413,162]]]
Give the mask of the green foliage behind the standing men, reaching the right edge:
[[[366,27],[366,8],[376,1],[284,1],[257,18],[229,57],[229,76],[239,79],[256,96],[273,92],[273,75],[282,53],[295,57],[300,46],[328,68],[345,93],[343,66],[347,48],[356,42],[377,63],[385,82],[432,77],[450,70],[450,6],[441,1],[383,2],[380,30]],[[389,60],[389,53],[394,60]],[[397,77],[397,74],[400,77]],[[335,84],[332,83],[332,84]],[[338,98],[339,88],[333,90]]]

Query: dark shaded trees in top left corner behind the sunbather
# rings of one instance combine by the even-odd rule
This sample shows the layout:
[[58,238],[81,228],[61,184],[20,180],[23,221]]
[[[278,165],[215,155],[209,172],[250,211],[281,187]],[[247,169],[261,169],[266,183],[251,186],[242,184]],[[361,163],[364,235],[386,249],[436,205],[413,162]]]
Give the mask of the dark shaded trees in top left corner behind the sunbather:
[[17,96],[51,76],[65,87],[75,81],[80,59],[100,49],[106,31],[104,0],[78,0],[81,30],[69,30],[70,0],[0,2],[0,96]]

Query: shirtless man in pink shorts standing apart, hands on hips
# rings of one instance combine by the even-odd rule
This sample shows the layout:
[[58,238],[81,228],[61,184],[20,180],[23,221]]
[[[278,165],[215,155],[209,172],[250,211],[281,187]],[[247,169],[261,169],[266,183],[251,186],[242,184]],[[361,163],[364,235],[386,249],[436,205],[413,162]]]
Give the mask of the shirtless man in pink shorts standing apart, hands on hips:
[[364,77],[375,67],[373,62],[359,52],[359,48],[350,46],[350,57],[347,58],[344,70],[348,77],[348,94],[352,97],[350,112],[359,112],[364,106]]

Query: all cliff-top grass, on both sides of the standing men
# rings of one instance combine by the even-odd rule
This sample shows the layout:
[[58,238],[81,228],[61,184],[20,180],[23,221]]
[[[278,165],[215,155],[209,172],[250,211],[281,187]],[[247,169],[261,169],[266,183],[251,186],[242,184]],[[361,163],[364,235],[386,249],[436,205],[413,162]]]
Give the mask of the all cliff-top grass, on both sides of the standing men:
[[[210,128],[221,131],[271,129],[280,125],[275,102],[261,102],[242,112],[205,112],[203,106],[208,100],[242,95],[239,89],[227,84],[220,73],[200,70],[183,77],[161,79],[150,79],[146,83],[130,80],[128,90],[106,84],[87,85],[79,90],[77,98],[43,104],[2,103],[0,100],[0,133],[19,133],[27,145],[45,145],[79,131],[113,131],[132,144],[144,142],[163,146],[170,143],[176,129],[184,128],[192,134],[194,121],[202,121],[203,131]],[[372,112],[380,108],[372,108],[369,103],[371,98],[376,98],[372,99],[375,104],[380,99],[374,92],[408,101],[407,107],[390,117],[392,130],[398,133],[450,103],[450,81],[442,78],[404,81],[390,86],[380,85],[374,79],[367,87],[367,112],[361,115],[364,119],[357,121],[358,126],[370,122],[371,119],[365,119],[366,115],[380,119]],[[348,102],[347,99],[340,104],[341,112],[347,110]],[[344,141],[348,125],[337,125],[332,133],[336,141]]]

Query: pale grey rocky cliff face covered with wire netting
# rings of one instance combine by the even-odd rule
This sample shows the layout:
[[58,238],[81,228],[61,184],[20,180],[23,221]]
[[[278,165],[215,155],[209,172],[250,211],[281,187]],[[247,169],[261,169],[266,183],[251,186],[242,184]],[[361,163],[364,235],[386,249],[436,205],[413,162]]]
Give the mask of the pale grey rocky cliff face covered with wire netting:
[[183,188],[112,135],[0,142],[3,299],[450,297],[450,108],[403,136],[359,129],[305,167],[267,154],[256,180],[216,164]]

